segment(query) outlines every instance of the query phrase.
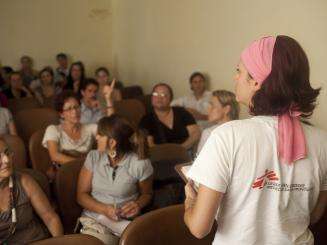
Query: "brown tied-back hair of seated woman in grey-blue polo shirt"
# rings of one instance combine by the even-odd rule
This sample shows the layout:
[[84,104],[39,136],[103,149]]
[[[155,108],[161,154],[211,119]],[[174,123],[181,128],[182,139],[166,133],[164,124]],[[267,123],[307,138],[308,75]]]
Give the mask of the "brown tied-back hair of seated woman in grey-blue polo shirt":
[[148,145],[143,132],[135,129],[125,118],[113,114],[103,117],[98,122],[98,134],[112,138],[117,142],[118,156],[134,152],[139,159],[148,155]]

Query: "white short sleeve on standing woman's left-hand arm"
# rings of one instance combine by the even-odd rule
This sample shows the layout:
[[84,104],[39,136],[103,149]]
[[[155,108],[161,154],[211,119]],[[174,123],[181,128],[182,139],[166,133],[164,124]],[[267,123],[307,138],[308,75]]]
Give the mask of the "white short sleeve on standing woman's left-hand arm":
[[215,129],[187,173],[190,179],[225,193],[231,179],[233,133],[231,127]]

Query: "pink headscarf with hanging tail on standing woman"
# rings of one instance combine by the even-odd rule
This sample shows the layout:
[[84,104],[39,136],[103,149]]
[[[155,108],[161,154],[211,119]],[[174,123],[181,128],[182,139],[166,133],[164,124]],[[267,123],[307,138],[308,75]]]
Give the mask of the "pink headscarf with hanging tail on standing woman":
[[[263,37],[243,50],[241,60],[253,79],[262,84],[271,72],[275,37]],[[278,156],[283,163],[292,164],[307,155],[305,136],[299,120],[300,112],[278,116]]]

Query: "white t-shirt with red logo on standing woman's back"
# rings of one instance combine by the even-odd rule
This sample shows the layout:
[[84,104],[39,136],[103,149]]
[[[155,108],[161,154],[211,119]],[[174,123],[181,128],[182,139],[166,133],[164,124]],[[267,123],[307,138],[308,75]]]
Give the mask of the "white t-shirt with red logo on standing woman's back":
[[213,244],[313,244],[310,213],[327,190],[327,134],[303,125],[307,158],[277,156],[277,118],[257,116],[215,129],[188,177],[225,193]]

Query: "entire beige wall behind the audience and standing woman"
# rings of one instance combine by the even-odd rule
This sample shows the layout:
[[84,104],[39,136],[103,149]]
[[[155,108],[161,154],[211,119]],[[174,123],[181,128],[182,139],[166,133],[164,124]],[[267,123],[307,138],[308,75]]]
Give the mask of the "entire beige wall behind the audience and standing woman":
[[40,68],[64,51],[89,74],[107,65],[147,92],[167,81],[177,96],[189,92],[195,70],[208,74],[211,89],[233,90],[251,40],[291,35],[309,56],[312,84],[324,88],[313,122],[327,129],[325,0],[1,0],[0,10],[2,64],[16,66],[28,54]]

